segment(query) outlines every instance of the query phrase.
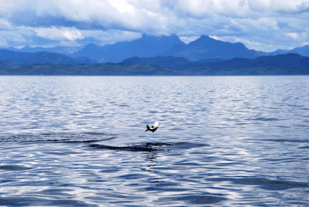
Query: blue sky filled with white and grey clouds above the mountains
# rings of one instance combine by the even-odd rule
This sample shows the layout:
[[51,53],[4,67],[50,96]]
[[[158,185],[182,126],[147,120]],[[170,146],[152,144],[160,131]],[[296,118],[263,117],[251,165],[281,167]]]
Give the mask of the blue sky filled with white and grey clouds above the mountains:
[[272,52],[309,44],[309,0],[0,0],[0,47],[200,35]]

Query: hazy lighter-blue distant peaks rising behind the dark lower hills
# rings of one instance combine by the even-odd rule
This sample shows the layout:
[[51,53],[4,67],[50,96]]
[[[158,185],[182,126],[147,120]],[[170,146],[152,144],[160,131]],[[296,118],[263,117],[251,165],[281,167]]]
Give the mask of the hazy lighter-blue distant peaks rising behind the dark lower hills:
[[[90,62],[121,62],[129,57],[174,56],[183,57],[189,61],[206,59],[232,59],[235,57],[253,59],[258,56],[298,53],[309,56],[309,45],[293,50],[277,50],[275,52],[260,52],[249,50],[242,43],[230,43],[202,35],[188,44],[183,43],[176,34],[170,36],[150,36],[143,34],[140,39],[98,46],[93,43],[84,47],[7,48],[15,52],[52,52],[67,55],[71,58],[85,58]],[[4,60],[0,56],[0,60]],[[95,60],[95,61],[93,61]]]

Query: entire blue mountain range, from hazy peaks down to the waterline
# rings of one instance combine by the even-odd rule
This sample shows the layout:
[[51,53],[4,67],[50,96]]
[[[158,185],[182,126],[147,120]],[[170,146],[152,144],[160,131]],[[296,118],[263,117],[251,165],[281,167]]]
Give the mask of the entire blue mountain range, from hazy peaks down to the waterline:
[[[161,37],[144,34],[137,40],[104,46],[8,49],[0,50],[0,69],[8,75],[28,74],[25,70],[30,68],[31,73],[47,75],[309,74],[309,45],[267,53],[206,35],[189,44],[176,34]],[[95,68],[97,72],[93,71]]]

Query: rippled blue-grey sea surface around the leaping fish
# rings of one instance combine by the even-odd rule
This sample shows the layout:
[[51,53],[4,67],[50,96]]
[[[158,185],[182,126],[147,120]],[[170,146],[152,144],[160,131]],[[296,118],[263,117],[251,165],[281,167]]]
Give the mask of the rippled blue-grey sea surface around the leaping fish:
[[309,76],[0,77],[0,206],[199,205],[309,206]]

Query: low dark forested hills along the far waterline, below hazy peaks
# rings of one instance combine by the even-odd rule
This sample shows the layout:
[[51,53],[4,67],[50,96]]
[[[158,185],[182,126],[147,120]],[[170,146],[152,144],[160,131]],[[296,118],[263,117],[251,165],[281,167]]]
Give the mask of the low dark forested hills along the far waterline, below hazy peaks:
[[309,57],[289,53],[255,59],[183,61],[134,57],[120,63],[17,65],[0,62],[0,75],[17,76],[285,76],[309,75]]

